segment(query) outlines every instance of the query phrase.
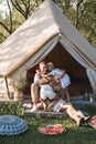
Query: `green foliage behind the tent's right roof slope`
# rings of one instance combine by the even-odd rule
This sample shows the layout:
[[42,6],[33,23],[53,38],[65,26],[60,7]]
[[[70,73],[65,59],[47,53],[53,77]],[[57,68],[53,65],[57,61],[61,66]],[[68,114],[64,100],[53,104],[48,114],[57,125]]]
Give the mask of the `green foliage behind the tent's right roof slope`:
[[[64,14],[75,25],[76,23],[76,3],[77,0],[54,0],[61,7]],[[78,31],[96,48],[96,0],[83,1],[79,6]]]

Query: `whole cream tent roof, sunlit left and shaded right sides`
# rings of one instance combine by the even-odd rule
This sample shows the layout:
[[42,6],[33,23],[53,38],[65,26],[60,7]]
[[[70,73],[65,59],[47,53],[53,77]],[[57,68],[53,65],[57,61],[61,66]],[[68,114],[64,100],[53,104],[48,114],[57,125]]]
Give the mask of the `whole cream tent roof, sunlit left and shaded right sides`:
[[96,50],[52,1],[44,3],[0,44],[0,75],[6,76],[29,60],[53,37],[63,34],[96,65]]

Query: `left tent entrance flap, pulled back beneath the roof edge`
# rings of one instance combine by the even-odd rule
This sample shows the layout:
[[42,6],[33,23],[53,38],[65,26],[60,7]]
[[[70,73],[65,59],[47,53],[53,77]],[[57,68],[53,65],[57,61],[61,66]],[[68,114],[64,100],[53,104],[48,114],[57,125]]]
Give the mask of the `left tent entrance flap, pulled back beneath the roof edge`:
[[58,35],[55,35],[49,40],[38,52],[35,52],[28,61],[25,61],[20,68],[18,68],[10,76],[13,79],[19,78],[20,73],[26,73],[30,69],[34,68],[40,61],[46,58],[46,55],[54,49],[58,42]]

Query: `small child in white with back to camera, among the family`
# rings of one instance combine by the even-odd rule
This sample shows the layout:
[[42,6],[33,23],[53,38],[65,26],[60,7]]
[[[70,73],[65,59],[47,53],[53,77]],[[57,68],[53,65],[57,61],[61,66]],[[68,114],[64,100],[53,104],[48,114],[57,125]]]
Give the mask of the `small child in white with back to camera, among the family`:
[[[57,102],[58,96],[54,92],[55,80],[52,75],[46,76],[47,83],[42,84],[40,89],[40,99],[44,111],[51,111],[52,106]],[[50,101],[47,105],[47,100]]]

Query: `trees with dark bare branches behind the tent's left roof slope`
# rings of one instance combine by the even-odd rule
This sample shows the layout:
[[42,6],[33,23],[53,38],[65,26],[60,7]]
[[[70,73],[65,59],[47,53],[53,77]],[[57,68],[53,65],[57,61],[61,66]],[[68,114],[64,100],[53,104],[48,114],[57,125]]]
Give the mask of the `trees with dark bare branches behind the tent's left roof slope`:
[[[43,0],[7,0],[8,13],[0,20],[0,42],[9,37],[32,12],[42,3]],[[3,0],[0,0],[3,3]]]

